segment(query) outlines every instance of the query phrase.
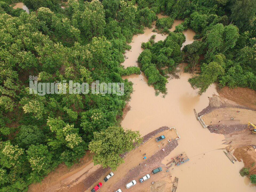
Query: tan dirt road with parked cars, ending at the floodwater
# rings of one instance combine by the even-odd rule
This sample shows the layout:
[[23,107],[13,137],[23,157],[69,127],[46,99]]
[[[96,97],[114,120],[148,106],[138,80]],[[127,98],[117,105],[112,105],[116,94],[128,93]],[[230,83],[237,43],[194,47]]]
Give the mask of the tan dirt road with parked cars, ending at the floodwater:
[[[163,141],[156,142],[155,137],[159,137],[161,135],[165,135],[166,138]],[[167,129],[161,133],[157,133],[155,136],[151,136],[151,138],[149,138],[143,145],[137,147],[125,156],[125,163],[121,164],[118,169],[113,172],[113,178],[111,178],[107,183],[105,183],[103,179],[108,173],[98,178],[97,182],[93,183],[92,186],[84,185],[83,190],[87,189],[86,192],[90,192],[93,186],[101,182],[103,183],[101,191],[113,192],[114,190],[121,188],[123,192],[126,192],[128,191],[125,187],[126,183],[135,179],[137,181],[137,185],[134,186],[132,190],[134,192],[143,191],[145,185],[150,184],[153,180],[157,181],[165,176],[166,170],[164,167],[163,173],[158,175],[152,175],[151,171],[158,166],[164,166],[161,164],[161,161],[178,145],[175,140],[176,138],[178,138],[178,136],[174,129]],[[168,142],[168,140],[172,141]],[[165,149],[165,151],[162,149]],[[146,160],[143,159],[144,156],[146,156]],[[146,174],[151,175],[150,180],[140,184],[138,181],[139,178]],[[170,173],[168,173],[168,175],[170,175]],[[86,184],[84,182],[82,183]],[[82,192],[81,185],[74,186],[74,188],[70,188],[68,191]]]

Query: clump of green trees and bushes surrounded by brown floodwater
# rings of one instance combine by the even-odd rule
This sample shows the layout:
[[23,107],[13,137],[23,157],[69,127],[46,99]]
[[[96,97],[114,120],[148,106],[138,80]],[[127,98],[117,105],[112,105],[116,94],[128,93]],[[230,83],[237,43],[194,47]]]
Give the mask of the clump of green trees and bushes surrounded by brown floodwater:
[[170,32],[164,41],[155,43],[153,36],[148,42],[142,44],[145,50],[139,55],[138,62],[141,71],[148,79],[148,84],[153,84],[155,90],[166,93],[167,78],[165,75],[172,72],[182,61],[181,46],[184,41],[183,33]]

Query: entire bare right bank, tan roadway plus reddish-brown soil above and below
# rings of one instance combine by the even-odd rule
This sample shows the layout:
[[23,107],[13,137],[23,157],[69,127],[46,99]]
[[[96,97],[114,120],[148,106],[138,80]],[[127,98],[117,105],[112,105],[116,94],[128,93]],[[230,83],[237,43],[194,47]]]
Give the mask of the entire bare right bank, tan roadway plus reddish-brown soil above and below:
[[256,134],[247,127],[248,122],[256,125],[256,91],[224,87],[218,93],[198,115],[210,132],[225,136],[227,149],[244,162],[250,174],[256,174]]

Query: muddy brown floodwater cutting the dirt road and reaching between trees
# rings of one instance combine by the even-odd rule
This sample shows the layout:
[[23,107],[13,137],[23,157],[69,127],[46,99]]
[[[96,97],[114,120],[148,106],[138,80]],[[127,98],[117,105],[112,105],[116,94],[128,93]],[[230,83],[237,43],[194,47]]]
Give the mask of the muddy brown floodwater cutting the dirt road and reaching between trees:
[[[174,26],[181,22],[176,20]],[[183,33],[188,37],[184,44],[192,43],[195,33],[192,30]],[[134,36],[130,44],[132,48],[126,53],[128,59],[123,63],[125,67],[137,66],[137,58],[142,52],[141,43],[148,41],[152,35],[156,35],[155,42],[166,37],[152,32],[152,29]],[[177,192],[255,192],[256,187],[250,184],[249,179],[239,175],[243,163],[232,164],[223,153],[225,137],[202,128],[195,118],[193,109],[199,112],[206,108],[208,97],[218,95],[216,86],[213,84],[205,93],[198,95],[198,90],[192,89],[188,82],[190,74],[182,71],[178,73],[180,79],[169,80],[165,98],[155,96],[154,88],[147,85],[143,73],[124,76],[124,79],[134,83],[134,92],[128,103],[131,109],[121,122],[122,127],[139,130],[142,136],[162,126],[177,129],[181,136],[179,145],[162,162],[167,164],[171,157],[182,152],[190,158],[189,162],[171,170],[171,174],[179,178]],[[132,191],[137,192],[136,188]]]

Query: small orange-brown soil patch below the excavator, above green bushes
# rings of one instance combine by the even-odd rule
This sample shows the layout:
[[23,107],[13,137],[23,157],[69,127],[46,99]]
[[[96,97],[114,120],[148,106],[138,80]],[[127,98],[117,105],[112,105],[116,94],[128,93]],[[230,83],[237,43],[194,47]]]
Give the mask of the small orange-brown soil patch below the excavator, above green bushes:
[[252,146],[236,148],[234,155],[238,161],[243,160],[245,167],[249,169],[249,175],[256,174],[256,152]]

